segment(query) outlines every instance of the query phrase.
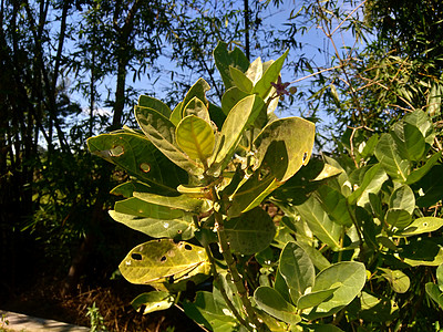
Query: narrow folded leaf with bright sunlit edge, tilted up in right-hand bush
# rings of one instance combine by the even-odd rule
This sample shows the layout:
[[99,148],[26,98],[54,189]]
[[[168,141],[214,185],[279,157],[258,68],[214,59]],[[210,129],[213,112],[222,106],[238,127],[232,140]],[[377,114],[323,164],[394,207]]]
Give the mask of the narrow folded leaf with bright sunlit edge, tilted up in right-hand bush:
[[369,194],[378,194],[388,179],[387,173],[380,164],[371,166],[363,176],[360,186],[348,197],[350,205],[364,206],[369,203]]

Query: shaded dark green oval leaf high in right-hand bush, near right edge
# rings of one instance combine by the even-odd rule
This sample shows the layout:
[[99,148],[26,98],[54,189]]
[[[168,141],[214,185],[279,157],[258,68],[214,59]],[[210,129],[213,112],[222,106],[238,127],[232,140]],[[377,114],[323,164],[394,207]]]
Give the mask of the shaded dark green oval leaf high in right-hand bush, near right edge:
[[425,142],[418,127],[400,121],[393,125],[391,135],[403,159],[418,162],[423,157]]

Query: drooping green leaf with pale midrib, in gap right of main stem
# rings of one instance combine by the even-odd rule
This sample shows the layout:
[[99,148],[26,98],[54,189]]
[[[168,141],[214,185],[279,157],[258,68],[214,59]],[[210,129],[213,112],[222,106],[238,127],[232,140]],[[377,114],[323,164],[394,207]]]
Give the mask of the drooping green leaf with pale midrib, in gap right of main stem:
[[320,203],[312,196],[296,207],[313,235],[332,250],[340,248],[342,227],[329,219]]

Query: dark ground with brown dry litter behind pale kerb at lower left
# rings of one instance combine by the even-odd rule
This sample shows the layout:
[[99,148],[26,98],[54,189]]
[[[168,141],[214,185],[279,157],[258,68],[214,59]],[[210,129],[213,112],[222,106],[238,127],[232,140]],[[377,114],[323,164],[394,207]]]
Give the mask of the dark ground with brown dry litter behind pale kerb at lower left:
[[131,301],[141,293],[141,289],[124,282],[91,287],[79,286],[72,295],[61,295],[62,282],[59,280],[39,280],[1,301],[1,308],[52,319],[71,324],[91,326],[86,315],[87,308],[95,302],[104,325],[112,332],[198,332],[203,331],[178,308],[143,315],[131,307]]

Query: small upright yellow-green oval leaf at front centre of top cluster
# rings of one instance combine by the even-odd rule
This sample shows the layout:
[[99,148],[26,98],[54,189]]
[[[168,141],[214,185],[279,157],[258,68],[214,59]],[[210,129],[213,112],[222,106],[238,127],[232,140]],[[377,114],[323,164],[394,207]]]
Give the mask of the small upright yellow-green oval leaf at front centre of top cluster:
[[179,122],[176,137],[178,146],[193,159],[206,164],[206,159],[213,154],[215,144],[213,128],[206,121],[195,115],[188,115]]

